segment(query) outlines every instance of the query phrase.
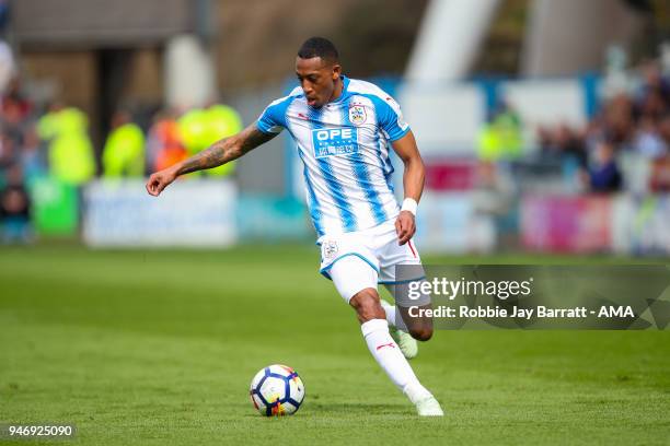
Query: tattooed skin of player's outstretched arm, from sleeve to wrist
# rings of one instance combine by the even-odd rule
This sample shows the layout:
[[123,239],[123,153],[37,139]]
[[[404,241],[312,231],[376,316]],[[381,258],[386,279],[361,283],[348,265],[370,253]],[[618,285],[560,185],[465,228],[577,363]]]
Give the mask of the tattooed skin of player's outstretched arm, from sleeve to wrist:
[[178,169],[178,175],[217,167],[236,160],[276,136],[275,133],[268,134],[262,132],[254,122],[240,133],[230,138],[223,138],[211,144],[208,149],[184,161]]

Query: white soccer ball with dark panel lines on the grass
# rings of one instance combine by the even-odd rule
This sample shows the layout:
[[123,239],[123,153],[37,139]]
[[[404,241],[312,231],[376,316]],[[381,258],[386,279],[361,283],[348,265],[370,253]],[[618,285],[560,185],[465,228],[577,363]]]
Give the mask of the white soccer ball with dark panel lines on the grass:
[[254,376],[249,395],[262,415],[292,415],[304,399],[304,385],[291,367],[273,364]]

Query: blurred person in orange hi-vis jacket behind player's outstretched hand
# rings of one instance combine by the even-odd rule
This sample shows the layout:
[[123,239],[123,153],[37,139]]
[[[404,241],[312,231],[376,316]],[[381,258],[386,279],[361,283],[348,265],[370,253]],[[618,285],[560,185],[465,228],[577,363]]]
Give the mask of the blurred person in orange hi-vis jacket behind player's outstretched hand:
[[147,160],[151,172],[162,171],[187,156],[182,143],[180,126],[172,111],[161,111],[149,129]]

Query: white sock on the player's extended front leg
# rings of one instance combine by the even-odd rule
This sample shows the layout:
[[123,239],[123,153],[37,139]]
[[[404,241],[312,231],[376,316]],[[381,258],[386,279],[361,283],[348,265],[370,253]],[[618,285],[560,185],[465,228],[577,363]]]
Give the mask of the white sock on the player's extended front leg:
[[360,329],[374,360],[412,402],[430,395],[416,378],[412,366],[389,334],[389,322],[384,319],[371,319],[362,324]]

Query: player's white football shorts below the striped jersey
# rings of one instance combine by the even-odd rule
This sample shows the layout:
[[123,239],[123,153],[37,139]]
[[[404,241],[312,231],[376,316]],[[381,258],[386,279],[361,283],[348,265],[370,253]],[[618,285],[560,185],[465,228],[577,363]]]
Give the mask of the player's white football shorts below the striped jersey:
[[[395,219],[369,230],[324,235],[319,239],[319,244],[320,272],[333,280],[347,303],[361,290],[377,290],[378,284],[385,285],[393,294],[393,289],[398,283],[425,279],[414,240],[411,239],[402,246],[397,244]],[[417,266],[411,272],[411,275],[415,277],[396,278],[395,267],[398,265]],[[424,302],[418,304],[425,305]],[[413,302],[412,305],[417,303]]]

